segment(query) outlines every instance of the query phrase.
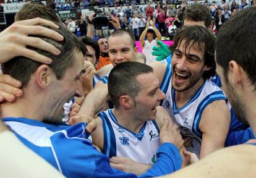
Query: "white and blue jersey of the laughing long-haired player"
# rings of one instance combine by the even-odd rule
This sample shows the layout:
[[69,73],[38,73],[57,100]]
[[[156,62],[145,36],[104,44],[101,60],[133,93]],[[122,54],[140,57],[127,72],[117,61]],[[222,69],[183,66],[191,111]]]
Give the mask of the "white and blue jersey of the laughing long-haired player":
[[161,85],[161,90],[166,93],[166,98],[161,106],[169,112],[173,122],[179,126],[182,136],[193,138],[193,143],[187,150],[199,156],[202,141],[199,123],[203,109],[213,101],[227,100],[227,98],[220,87],[216,86],[211,80],[205,80],[202,87],[197,90],[187,104],[178,109],[175,103],[175,91],[171,86],[171,69],[168,68],[166,71],[169,72],[169,75],[166,74],[164,77],[169,76],[169,78],[164,78],[162,83],[168,81],[169,86],[166,90],[167,85]]

